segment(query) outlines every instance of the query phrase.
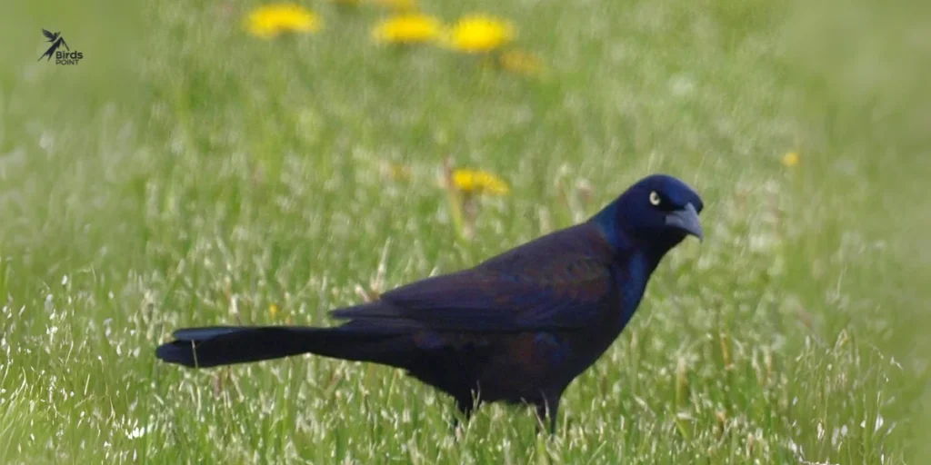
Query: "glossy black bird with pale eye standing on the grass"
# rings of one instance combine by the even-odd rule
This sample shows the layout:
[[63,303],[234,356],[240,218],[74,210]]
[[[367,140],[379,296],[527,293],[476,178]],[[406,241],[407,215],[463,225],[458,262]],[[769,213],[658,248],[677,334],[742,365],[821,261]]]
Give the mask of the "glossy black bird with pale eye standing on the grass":
[[466,419],[481,402],[528,403],[555,432],[562,392],[627,326],[660,259],[702,238],[702,208],[679,179],[650,176],[584,223],[331,312],[342,326],[180,329],[155,354],[196,367],[306,352],[396,366]]

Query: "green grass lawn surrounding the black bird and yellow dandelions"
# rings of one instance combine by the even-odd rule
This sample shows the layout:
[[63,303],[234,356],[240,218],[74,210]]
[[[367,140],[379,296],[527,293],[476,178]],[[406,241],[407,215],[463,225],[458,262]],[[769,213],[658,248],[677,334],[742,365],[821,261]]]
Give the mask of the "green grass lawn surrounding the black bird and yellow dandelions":
[[[264,42],[240,27],[255,5],[11,7],[0,462],[923,462],[918,10],[425,2],[514,20],[534,79],[374,46],[374,8],[316,2],[323,33]],[[36,62],[41,27],[85,60]],[[471,241],[436,185],[447,155],[512,186]],[[450,399],[384,367],[155,361],[178,326],[327,324],[380,264],[385,286],[469,266],[656,171],[702,193],[707,239],[662,263],[552,440],[497,405],[456,440]]]

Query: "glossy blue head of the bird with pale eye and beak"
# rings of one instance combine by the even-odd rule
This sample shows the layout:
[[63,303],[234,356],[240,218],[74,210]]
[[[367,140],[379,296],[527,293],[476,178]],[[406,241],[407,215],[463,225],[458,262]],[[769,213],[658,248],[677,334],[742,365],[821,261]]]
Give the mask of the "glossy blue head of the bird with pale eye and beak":
[[687,184],[667,175],[639,180],[593,220],[614,246],[641,245],[662,255],[689,235],[704,237],[704,204]]

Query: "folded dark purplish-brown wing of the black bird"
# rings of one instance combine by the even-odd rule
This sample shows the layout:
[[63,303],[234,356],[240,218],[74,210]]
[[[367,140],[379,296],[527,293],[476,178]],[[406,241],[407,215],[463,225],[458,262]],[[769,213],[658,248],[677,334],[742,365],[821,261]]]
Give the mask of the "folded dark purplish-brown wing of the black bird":
[[[385,293],[370,304],[337,310],[337,318],[450,331],[575,329],[611,311],[610,255],[586,237],[538,240],[478,267]],[[598,247],[595,247],[598,248]]]

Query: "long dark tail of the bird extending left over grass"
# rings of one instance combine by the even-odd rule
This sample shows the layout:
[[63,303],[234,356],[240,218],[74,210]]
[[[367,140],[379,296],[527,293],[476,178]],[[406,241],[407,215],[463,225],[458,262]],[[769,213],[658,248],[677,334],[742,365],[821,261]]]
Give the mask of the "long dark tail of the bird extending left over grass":
[[155,355],[172,364],[208,367],[258,362],[300,353],[404,366],[412,338],[352,324],[336,327],[209,326],[180,329]]

